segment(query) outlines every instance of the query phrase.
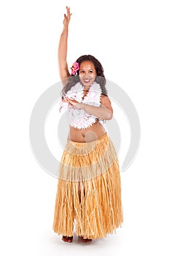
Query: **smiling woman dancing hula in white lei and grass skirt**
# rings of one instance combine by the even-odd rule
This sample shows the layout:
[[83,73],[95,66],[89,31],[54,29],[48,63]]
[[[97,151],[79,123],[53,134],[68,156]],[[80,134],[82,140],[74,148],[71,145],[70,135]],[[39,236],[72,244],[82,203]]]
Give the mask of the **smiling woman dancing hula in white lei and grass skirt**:
[[71,13],[66,7],[58,46],[63,82],[61,109],[69,113],[70,129],[61,157],[53,230],[72,242],[73,227],[83,242],[104,238],[123,222],[117,154],[102,121],[112,118],[101,63],[80,56],[69,73],[67,37]]

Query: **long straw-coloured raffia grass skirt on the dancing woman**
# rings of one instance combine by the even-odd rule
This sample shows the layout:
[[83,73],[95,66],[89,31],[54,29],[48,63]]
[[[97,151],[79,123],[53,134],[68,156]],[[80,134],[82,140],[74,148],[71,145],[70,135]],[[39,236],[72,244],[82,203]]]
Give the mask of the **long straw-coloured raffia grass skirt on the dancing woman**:
[[67,140],[61,157],[53,230],[58,235],[104,238],[122,227],[120,169],[105,133],[90,142]]

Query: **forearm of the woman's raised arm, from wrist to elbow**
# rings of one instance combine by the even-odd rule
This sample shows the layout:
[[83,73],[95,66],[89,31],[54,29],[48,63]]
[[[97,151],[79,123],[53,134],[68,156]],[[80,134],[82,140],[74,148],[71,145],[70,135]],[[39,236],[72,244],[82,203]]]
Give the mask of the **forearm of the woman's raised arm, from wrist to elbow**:
[[66,61],[67,56],[67,39],[68,39],[68,26],[63,26],[61,38],[58,45],[58,59]]

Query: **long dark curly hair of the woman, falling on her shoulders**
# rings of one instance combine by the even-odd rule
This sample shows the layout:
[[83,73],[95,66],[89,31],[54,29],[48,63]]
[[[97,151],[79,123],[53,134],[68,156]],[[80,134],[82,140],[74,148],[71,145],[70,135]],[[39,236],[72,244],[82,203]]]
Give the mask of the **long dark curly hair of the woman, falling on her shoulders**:
[[[106,78],[104,76],[104,69],[101,65],[101,63],[92,55],[82,55],[80,58],[77,59],[77,63],[80,64],[82,61],[91,61],[94,64],[94,67],[96,69],[96,83],[99,83],[101,86],[101,93],[107,96],[107,89],[105,87],[106,85]],[[61,91],[61,96],[63,97],[67,91],[69,91],[72,86],[74,86],[76,83],[80,82],[80,77],[79,77],[79,70],[77,70],[77,75],[72,75],[71,77],[68,78],[68,81],[66,83],[66,86],[63,87],[63,90]]]

